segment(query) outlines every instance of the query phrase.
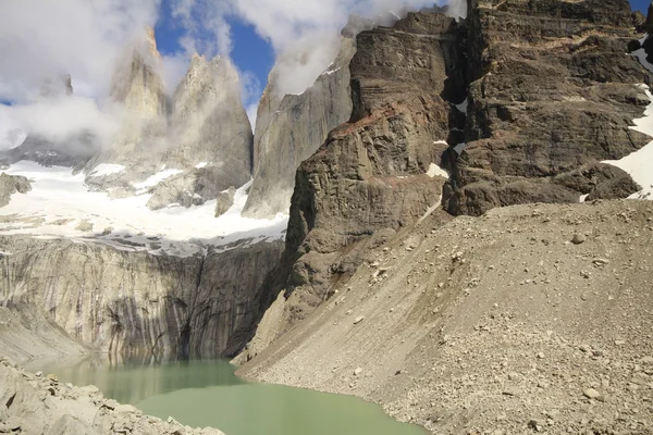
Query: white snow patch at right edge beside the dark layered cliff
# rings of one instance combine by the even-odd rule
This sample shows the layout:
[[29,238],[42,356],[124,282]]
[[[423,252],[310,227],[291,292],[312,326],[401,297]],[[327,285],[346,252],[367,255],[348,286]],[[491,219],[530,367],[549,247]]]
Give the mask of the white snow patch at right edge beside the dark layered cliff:
[[[653,95],[648,86],[642,86],[645,87],[651,103],[646,107],[644,116],[633,121],[634,126],[631,128],[653,136]],[[603,163],[626,171],[642,187],[642,190],[631,195],[630,199],[653,199],[653,141],[620,160],[606,160]]]

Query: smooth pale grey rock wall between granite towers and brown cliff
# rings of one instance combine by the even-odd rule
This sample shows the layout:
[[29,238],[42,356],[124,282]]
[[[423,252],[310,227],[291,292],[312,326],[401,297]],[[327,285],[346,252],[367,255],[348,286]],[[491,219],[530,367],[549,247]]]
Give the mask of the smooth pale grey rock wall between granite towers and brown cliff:
[[326,134],[349,119],[349,61],[356,41],[342,38],[335,61],[301,95],[279,100],[275,72],[259,107],[255,138],[255,174],[245,215],[271,217],[288,209],[295,171],[323,144]]

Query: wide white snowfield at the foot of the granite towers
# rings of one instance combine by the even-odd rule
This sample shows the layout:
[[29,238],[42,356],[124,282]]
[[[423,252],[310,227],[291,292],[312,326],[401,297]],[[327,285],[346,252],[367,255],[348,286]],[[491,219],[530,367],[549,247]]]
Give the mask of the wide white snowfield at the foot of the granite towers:
[[[101,173],[116,170],[108,166]],[[238,240],[245,240],[241,246],[276,240],[284,237],[287,226],[287,214],[280,213],[269,221],[241,216],[250,183],[236,191],[234,206],[226,213],[214,217],[215,200],[189,209],[169,207],[151,211],[146,207],[151,195],[111,199],[104,192],[88,191],[84,175],[73,175],[70,167],[45,167],[22,161],[3,172],[26,176],[32,182],[29,192],[13,195],[10,203],[0,209],[0,234],[5,235],[95,240],[124,250],[185,257],[208,247],[230,249],[229,245]],[[167,172],[158,178],[169,174],[172,175]]]

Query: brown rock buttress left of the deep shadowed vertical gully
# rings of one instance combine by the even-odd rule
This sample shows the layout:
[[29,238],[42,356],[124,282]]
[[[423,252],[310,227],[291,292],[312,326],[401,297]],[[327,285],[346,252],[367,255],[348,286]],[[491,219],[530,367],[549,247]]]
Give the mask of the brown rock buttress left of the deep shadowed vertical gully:
[[352,119],[297,171],[284,254],[286,284],[303,286],[297,316],[356,270],[366,249],[440,203],[444,178],[427,172],[459,125],[448,100],[464,98],[461,36],[464,27],[434,13],[358,35]]

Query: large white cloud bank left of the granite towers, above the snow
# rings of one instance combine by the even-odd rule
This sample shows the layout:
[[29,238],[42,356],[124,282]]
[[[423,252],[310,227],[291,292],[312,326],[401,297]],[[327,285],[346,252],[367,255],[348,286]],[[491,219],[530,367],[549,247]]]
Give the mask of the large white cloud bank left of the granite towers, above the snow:
[[[160,0],[0,1],[0,148],[15,132],[65,140],[83,132],[104,138],[113,112],[100,109],[126,42],[155,24]],[[44,84],[63,87],[73,77],[75,97],[44,99]],[[61,94],[61,92],[59,92]],[[13,133],[12,133],[13,132]]]

